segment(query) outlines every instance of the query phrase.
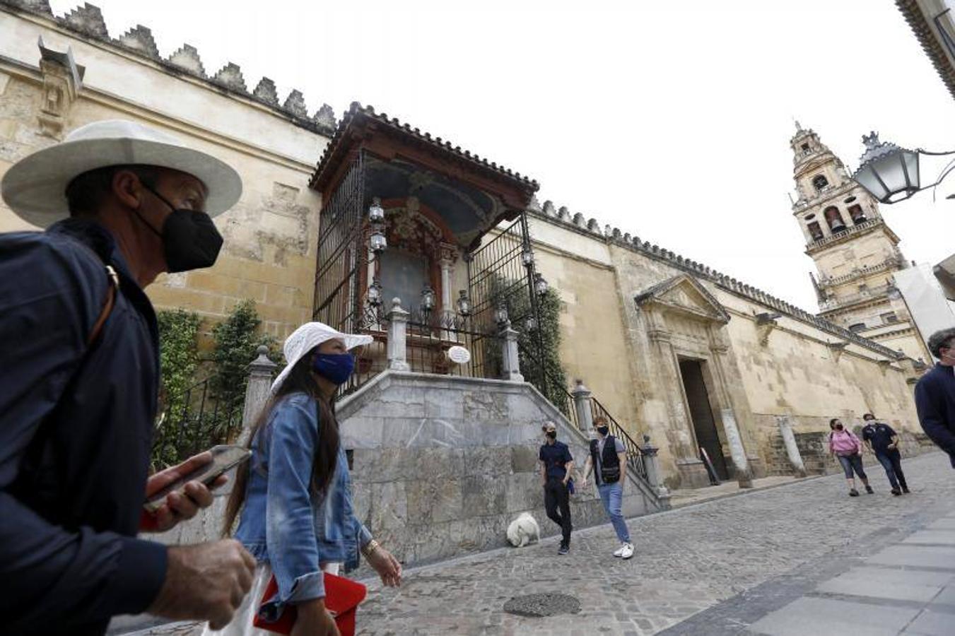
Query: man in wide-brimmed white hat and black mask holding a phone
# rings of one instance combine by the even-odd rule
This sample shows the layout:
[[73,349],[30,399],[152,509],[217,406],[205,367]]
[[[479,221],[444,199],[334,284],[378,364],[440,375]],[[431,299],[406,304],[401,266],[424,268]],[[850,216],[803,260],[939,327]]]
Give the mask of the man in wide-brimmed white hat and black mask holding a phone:
[[0,235],[0,624],[5,634],[102,634],[143,611],[224,625],[255,561],[235,541],[136,538],[212,502],[198,482],[152,516],[144,498],[211,459],[147,478],[159,386],[163,271],[215,263],[211,217],[242,180],[140,124],[98,121],[0,182],[42,232]]

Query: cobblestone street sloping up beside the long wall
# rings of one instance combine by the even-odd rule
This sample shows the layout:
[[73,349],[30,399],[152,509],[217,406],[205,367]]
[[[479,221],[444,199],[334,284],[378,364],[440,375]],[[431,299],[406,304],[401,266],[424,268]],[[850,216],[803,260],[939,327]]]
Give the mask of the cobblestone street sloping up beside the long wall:
[[[841,476],[819,477],[630,519],[637,554],[628,562],[611,555],[617,544],[607,524],[575,533],[565,557],[548,538],[411,571],[399,590],[371,586],[359,633],[652,634],[781,575],[858,560],[955,510],[943,454],[905,460],[912,494],[901,498],[889,494],[878,464],[866,463],[875,495],[849,498]],[[580,613],[502,611],[512,597],[545,592],[577,597]]]

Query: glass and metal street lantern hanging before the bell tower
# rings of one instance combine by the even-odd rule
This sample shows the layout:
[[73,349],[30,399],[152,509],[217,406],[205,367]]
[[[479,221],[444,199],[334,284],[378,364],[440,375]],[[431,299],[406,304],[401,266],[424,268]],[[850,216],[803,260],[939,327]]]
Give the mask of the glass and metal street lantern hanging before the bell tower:
[[862,143],[865,152],[852,178],[880,203],[904,201],[922,189],[919,184],[921,151],[913,152],[890,141],[880,141],[875,131],[863,135]]

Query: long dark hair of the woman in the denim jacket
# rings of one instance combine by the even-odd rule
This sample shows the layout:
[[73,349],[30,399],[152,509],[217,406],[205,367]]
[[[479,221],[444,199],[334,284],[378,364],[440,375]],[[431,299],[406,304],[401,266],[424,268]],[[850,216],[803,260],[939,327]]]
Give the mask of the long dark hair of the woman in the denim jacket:
[[[317,349],[317,348],[316,348]],[[338,421],[335,419],[334,398],[329,399],[318,389],[315,377],[311,371],[311,361],[315,350],[308,351],[302,356],[288,377],[279,387],[274,395],[265,402],[262,413],[256,418],[255,423],[249,431],[246,448],[252,448],[257,435],[262,431],[265,422],[272,414],[279,401],[289,393],[302,392],[307,393],[318,405],[319,435],[318,446],[315,449],[315,456],[311,462],[311,492],[312,494],[324,493],[329,487],[331,476],[335,473],[335,463],[338,458]],[[239,511],[245,502],[245,488],[248,485],[249,464],[244,462],[239,470],[236,471],[235,483],[232,484],[232,494],[229,495],[228,503],[225,504],[225,520],[223,523],[223,537],[232,534],[232,525],[239,516]]]

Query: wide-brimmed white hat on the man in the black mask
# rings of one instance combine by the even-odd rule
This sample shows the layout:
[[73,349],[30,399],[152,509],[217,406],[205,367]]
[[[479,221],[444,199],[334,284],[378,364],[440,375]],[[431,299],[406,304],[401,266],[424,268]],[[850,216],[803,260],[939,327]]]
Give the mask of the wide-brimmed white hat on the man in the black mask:
[[70,181],[111,165],[155,165],[192,175],[205,185],[204,211],[210,217],[222,214],[242,196],[239,173],[222,159],[125,119],[80,126],[61,143],[20,159],[0,181],[0,195],[21,219],[48,227],[70,214],[66,201]]

